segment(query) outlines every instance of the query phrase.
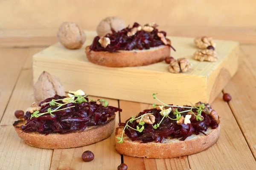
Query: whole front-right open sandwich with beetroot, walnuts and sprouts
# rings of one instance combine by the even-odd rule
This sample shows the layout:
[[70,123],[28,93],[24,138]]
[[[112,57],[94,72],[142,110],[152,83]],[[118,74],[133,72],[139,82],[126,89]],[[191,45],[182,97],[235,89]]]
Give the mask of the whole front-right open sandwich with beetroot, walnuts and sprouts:
[[157,159],[186,156],[215,144],[219,130],[219,116],[209,104],[163,103],[120,123],[116,128],[116,150],[126,156]]

